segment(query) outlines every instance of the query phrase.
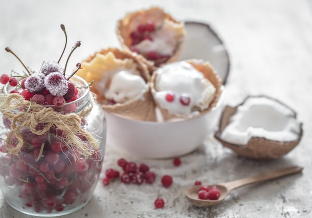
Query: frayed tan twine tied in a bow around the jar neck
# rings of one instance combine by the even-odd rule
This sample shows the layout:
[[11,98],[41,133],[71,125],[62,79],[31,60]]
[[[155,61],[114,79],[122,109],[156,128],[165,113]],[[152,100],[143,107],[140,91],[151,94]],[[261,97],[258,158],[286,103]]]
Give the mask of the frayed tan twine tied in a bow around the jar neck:
[[[20,94],[0,93],[0,112],[4,118],[11,121],[11,129],[5,140],[6,150],[10,154],[17,154],[20,151],[24,144],[20,130],[24,127],[29,128],[36,135],[44,135],[51,127],[55,127],[63,132],[62,137],[59,138],[68,147],[73,148],[78,154],[85,157],[91,156],[95,153],[91,146],[97,149],[99,141],[81,127],[81,119],[91,112],[94,97],[91,96],[90,104],[79,113],[61,114],[54,111],[52,107],[43,107],[25,100]],[[20,111],[21,108],[28,108],[28,110]],[[16,113],[16,111],[19,112]],[[43,125],[43,128],[37,129],[38,124]],[[14,135],[18,139],[18,143],[12,147],[9,142]],[[84,136],[87,140],[83,141],[78,135]]]

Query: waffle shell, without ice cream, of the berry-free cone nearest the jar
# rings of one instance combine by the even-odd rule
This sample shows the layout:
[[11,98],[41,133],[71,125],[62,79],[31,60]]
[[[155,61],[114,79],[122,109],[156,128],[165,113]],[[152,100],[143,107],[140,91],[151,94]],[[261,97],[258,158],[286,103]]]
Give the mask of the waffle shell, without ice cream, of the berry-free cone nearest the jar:
[[[82,62],[82,66],[84,63],[90,63],[98,53],[102,55],[108,55],[110,52],[112,52],[115,55],[116,59],[121,60],[124,60],[126,58],[132,59],[136,65],[136,70],[140,72],[140,75],[147,83],[149,82],[151,76],[147,65],[144,64],[144,62],[142,61],[142,57],[136,55],[135,53],[131,53],[129,51],[121,50],[118,48],[102,49],[90,55],[86,60],[84,60]],[[86,70],[83,67],[83,69],[79,70],[77,74],[78,76],[81,76],[89,83],[92,81],[94,81],[94,83],[100,82],[100,79],[102,77],[111,76],[109,75],[109,71],[111,70],[110,63],[103,62],[101,64],[107,66],[106,70],[100,72],[97,71],[96,69],[92,69],[92,65],[91,66],[89,65]],[[92,71],[92,73],[90,73],[90,71]],[[103,95],[104,90],[101,93],[94,86],[92,86],[91,91],[97,95],[101,107],[103,108],[104,111],[108,113],[114,113],[116,115],[123,116],[129,119],[142,121],[156,121],[155,103],[152,98],[150,90],[146,91],[144,95],[141,96],[140,98],[128,100],[125,103],[116,103],[113,105],[108,103],[108,99],[105,99],[105,96]]]

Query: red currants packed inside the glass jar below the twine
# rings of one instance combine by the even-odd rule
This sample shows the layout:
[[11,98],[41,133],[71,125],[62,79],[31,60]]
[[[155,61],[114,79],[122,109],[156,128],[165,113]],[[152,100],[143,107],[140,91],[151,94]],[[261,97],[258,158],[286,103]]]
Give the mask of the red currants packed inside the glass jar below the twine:
[[[92,194],[102,157],[99,152],[88,159],[78,155],[61,141],[62,134],[55,128],[41,136],[23,129],[24,144],[29,146],[0,158],[0,176],[7,186],[14,186],[11,195],[18,196],[23,207],[36,212],[63,211],[83,204]],[[10,146],[17,141],[12,137]],[[5,145],[0,152],[7,153]]]

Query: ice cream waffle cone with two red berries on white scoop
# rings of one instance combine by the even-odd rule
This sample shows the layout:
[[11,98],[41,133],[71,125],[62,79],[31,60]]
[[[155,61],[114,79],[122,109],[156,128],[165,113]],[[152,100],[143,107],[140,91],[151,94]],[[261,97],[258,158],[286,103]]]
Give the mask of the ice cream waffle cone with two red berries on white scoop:
[[209,62],[197,59],[158,67],[150,86],[166,121],[201,116],[216,105],[221,95],[220,77]]

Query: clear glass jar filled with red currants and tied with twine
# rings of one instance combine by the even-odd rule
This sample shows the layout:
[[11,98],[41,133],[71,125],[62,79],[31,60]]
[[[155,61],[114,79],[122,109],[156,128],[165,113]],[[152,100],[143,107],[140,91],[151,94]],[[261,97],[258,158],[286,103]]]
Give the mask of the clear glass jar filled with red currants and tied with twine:
[[[53,217],[72,213],[90,201],[98,182],[104,159],[106,118],[87,82],[77,76],[71,81],[79,87],[76,100],[61,108],[42,107],[54,107],[46,119],[50,125],[52,122],[48,129],[41,119],[35,123],[36,131],[25,125],[8,138],[12,129],[23,123],[11,125],[12,119],[1,113],[0,189],[7,204],[24,214]],[[5,85],[3,94],[12,89]],[[12,110],[13,115],[20,112],[30,116],[31,104]],[[36,121],[33,117],[29,119]],[[21,140],[21,147],[14,150]]]

